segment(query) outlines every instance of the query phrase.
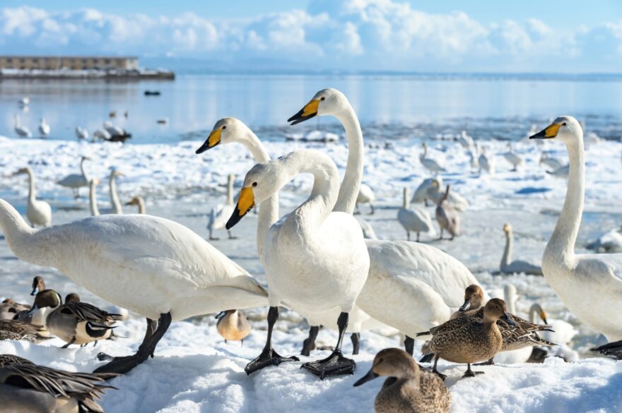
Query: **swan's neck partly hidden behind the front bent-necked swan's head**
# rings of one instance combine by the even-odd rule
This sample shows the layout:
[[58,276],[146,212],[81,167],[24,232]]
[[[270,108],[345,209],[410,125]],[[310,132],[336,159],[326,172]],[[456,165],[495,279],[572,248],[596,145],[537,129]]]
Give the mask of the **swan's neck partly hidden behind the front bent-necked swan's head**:
[[[270,155],[266,147],[250,129],[247,129],[246,136],[242,140],[239,140],[239,142],[250,150],[251,155],[257,162],[268,162],[270,160]],[[259,214],[257,217],[257,253],[259,254],[259,258],[264,256],[264,241],[266,235],[272,224],[278,221],[278,218],[278,193],[275,193],[270,198],[264,200],[259,207]]]

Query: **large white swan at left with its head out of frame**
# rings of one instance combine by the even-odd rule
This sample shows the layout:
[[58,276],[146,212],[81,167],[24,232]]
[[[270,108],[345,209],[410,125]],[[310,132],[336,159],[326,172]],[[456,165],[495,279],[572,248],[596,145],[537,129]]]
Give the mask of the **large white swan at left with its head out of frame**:
[[124,373],[146,361],[171,321],[267,304],[266,291],[244,269],[163,218],[100,215],[37,230],[0,199],[0,229],[20,260],[57,268],[102,299],[148,318],[138,352],[98,371]]

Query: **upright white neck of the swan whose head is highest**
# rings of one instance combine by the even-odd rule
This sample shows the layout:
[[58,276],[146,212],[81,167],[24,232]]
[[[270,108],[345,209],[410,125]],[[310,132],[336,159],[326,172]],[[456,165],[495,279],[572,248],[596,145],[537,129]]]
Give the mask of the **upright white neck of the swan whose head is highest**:
[[365,164],[365,145],[363,144],[363,132],[360,130],[358,117],[354,109],[348,104],[343,114],[336,116],[344,125],[348,138],[348,164],[344,181],[341,182],[339,197],[334,211],[348,214],[354,213],[356,198],[360,183],[363,181],[363,166]]

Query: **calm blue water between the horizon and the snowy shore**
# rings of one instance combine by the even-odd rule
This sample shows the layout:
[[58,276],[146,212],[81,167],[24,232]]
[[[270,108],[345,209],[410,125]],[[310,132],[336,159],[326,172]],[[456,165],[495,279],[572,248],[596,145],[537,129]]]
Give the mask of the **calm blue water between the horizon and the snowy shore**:
[[[317,90],[338,88],[353,104],[366,132],[381,138],[430,137],[467,128],[476,138],[524,136],[531,124],[573,114],[590,131],[606,138],[622,135],[622,82],[524,80],[423,76],[222,76],[182,75],[172,82],[4,80],[0,82],[0,135],[16,137],[13,116],[38,134],[39,119],[52,128],[51,139],[74,139],[74,128],[92,133],[117,112],[115,124],[134,135],[132,143],[172,143],[204,137],[217,119],[236,116],[262,134],[319,128],[338,130],[328,118],[290,127]],[[144,90],[160,90],[146,97]],[[28,95],[28,111],[18,100]],[[127,119],[124,112],[128,112]],[[168,118],[167,125],[157,119]]]

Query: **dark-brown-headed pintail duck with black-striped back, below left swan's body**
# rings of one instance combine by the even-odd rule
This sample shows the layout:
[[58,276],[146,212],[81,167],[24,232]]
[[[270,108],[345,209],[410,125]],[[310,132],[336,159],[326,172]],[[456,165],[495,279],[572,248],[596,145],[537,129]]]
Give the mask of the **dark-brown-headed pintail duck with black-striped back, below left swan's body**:
[[63,348],[72,344],[96,344],[98,340],[107,339],[114,328],[112,323],[120,317],[88,303],[78,301],[62,304],[60,295],[53,289],[39,292],[31,311],[42,312],[47,330],[67,343]]

